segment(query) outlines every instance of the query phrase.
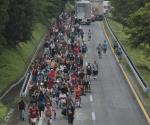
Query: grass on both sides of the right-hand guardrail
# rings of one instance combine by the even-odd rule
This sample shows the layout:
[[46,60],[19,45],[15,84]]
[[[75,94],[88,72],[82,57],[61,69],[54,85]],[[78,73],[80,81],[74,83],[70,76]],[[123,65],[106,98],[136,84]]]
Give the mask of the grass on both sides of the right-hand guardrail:
[[[123,26],[120,23],[112,19],[109,19],[109,23],[111,25],[111,28],[115,32],[116,36],[122,42],[123,46],[127,50],[129,57],[131,58],[133,63],[137,66],[140,74],[146,81],[147,85],[150,86],[150,77],[149,77],[150,76],[150,58],[146,57],[147,48],[143,46],[138,47],[138,48],[131,47],[128,36],[124,32]],[[125,65],[125,67],[129,75],[132,76],[134,82],[138,83],[132,71],[129,69],[129,66]],[[150,108],[150,97],[142,91],[142,88],[140,87],[139,84],[137,84],[137,86],[139,90],[141,91],[141,94],[144,98],[145,106]]]

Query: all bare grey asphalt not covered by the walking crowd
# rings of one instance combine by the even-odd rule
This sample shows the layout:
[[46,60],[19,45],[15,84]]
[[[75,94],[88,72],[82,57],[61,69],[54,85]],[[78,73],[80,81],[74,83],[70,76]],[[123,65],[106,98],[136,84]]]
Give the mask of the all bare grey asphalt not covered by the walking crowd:
[[[99,64],[97,80],[92,80],[92,93],[82,97],[81,108],[76,109],[75,125],[148,125],[124,76],[119,69],[110,48],[98,58],[96,47],[103,43],[105,36],[102,23],[94,22],[91,26],[83,26],[87,37],[88,29],[92,31],[92,40],[87,41],[86,61]],[[87,38],[86,38],[87,39]],[[46,125],[40,119],[39,125]],[[54,125],[67,125],[67,120],[57,111]],[[28,125],[28,121],[18,121],[13,125]]]

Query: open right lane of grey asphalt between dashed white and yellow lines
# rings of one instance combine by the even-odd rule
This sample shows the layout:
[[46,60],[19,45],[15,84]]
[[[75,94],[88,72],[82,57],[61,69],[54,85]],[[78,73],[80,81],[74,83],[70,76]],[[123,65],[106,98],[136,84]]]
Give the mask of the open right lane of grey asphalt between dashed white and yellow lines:
[[[108,49],[102,59],[98,59],[96,47],[105,38],[103,24],[95,22],[91,25],[93,40],[88,42],[87,60],[99,63],[99,76],[92,85],[93,101],[91,110],[95,114],[94,125],[147,125],[115,58]],[[89,28],[85,27],[87,32]]]

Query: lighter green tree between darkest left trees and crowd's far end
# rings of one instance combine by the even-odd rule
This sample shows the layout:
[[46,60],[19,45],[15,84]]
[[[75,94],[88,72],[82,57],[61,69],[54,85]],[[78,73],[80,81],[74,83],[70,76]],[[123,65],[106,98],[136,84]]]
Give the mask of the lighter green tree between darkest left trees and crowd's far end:
[[34,21],[40,21],[49,24],[49,20],[58,17],[65,6],[64,0],[33,0],[34,3]]

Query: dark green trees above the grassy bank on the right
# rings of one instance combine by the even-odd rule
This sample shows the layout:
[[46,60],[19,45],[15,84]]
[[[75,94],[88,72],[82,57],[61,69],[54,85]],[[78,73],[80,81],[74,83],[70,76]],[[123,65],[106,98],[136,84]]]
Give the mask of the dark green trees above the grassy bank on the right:
[[110,0],[115,20],[127,26],[134,47],[150,44],[149,0]]

